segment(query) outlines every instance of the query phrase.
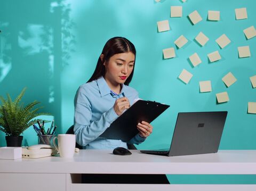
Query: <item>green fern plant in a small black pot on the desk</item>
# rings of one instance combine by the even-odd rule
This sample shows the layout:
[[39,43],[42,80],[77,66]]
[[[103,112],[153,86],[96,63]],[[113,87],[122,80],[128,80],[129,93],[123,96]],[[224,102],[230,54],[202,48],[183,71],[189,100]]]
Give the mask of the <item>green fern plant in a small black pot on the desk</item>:
[[23,106],[23,103],[20,104],[25,91],[26,88],[23,88],[14,101],[12,101],[9,94],[7,94],[6,99],[0,96],[2,102],[0,106],[0,130],[6,134],[5,139],[7,146],[21,146],[23,136],[20,136],[20,134],[37,123],[37,121],[43,121],[42,119],[34,118],[39,115],[49,115],[49,113],[38,113],[38,110],[42,107],[34,109],[35,105],[39,103],[37,101],[28,103],[26,106]]

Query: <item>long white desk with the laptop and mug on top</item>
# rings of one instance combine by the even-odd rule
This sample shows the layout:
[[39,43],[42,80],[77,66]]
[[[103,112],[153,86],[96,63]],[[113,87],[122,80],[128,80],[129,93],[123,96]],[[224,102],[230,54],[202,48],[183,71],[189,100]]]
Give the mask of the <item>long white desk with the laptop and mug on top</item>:
[[[215,154],[118,156],[109,150],[81,150],[72,159],[58,156],[41,159],[0,160],[1,190],[255,190],[256,185],[111,185],[76,184],[75,174],[235,174],[256,175],[256,151],[219,151]],[[44,184],[44,186],[41,186]],[[243,187],[243,188],[241,188]],[[22,189],[21,189],[22,188]]]

